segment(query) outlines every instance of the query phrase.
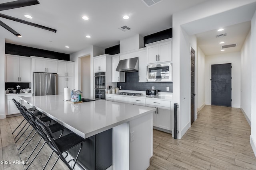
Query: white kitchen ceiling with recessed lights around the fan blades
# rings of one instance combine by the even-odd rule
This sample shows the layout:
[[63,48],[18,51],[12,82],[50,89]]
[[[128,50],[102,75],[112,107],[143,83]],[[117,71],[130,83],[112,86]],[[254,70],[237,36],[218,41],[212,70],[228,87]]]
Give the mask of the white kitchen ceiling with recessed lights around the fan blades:
[[[10,2],[12,0],[1,0]],[[28,47],[73,53],[90,45],[108,48],[119,44],[136,34],[150,35],[172,27],[172,14],[206,0],[162,0],[147,7],[142,0],[39,0],[40,4],[4,10],[0,13],[57,29],[51,32],[23,23],[0,18],[22,35],[16,37],[0,27],[0,37],[7,43]],[[29,14],[33,19],[27,19]],[[82,16],[89,20],[83,20]],[[124,20],[122,16],[130,19]],[[127,25],[130,31],[123,32],[119,27]],[[91,38],[86,38],[90,35]],[[70,48],[65,48],[69,46]]]

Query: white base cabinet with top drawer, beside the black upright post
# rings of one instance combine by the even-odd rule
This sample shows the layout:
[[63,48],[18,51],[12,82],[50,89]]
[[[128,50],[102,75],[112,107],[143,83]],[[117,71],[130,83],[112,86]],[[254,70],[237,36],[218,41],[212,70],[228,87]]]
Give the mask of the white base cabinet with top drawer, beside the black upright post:
[[171,131],[171,102],[146,99],[146,107],[156,108],[153,115],[153,125]]

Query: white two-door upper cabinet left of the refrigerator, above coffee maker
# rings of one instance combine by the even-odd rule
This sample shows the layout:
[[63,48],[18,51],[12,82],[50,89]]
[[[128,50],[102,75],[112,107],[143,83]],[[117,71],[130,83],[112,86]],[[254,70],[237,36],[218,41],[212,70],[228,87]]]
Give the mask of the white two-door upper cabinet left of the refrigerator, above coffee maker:
[[6,55],[6,82],[31,82],[31,59]]

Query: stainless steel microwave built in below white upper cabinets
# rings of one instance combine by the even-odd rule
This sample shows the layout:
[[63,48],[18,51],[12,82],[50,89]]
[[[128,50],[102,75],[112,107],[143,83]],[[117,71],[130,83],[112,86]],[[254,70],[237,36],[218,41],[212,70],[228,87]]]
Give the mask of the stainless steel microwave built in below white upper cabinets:
[[147,66],[148,82],[172,82],[172,63]]

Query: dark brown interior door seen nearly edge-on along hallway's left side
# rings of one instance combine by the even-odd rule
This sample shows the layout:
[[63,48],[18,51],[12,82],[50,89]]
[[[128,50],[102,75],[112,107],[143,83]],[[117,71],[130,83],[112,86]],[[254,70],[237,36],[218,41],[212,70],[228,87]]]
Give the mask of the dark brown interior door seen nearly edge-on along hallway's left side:
[[190,104],[190,125],[195,121],[195,51],[191,47],[191,104]]

